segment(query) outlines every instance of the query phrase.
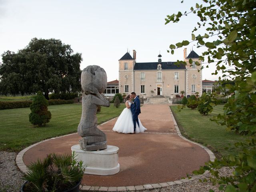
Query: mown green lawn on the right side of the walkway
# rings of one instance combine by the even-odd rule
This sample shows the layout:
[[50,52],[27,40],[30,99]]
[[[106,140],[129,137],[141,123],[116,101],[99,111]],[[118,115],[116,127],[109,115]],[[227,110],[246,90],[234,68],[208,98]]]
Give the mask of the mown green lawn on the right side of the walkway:
[[[182,135],[209,147],[218,157],[237,153],[233,144],[250,138],[227,131],[226,126],[210,121],[214,115],[223,112],[222,108],[223,106],[216,106],[211,114],[202,116],[197,110],[184,108],[178,112],[177,106],[171,106]],[[227,150],[226,147],[230,148]]]

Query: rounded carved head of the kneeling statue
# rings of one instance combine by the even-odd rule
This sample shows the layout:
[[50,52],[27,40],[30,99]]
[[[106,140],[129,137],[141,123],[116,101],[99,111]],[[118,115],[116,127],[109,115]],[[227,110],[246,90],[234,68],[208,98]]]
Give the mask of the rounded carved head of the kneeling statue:
[[85,94],[90,94],[90,86],[94,86],[101,94],[107,86],[107,74],[103,68],[97,65],[89,65],[82,71],[81,85]]

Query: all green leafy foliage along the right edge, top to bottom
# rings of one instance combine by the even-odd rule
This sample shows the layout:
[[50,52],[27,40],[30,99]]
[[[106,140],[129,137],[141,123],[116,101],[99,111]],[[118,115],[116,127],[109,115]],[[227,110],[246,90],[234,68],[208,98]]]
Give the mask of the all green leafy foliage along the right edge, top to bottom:
[[[196,14],[199,18],[197,26],[192,30],[192,40],[171,44],[168,51],[173,54],[176,48],[192,42],[196,42],[198,47],[206,47],[200,60],[204,62],[207,58],[206,67],[215,64],[216,70],[212,74],[222,72],[220,80],[227,77],[234,80],[230,83],[220,81],[230,97],[224,105],[224,114],[219,114],[215,121],[240,134],[251,134],[252,140],[235,144],[239,148],[239,154],[208,162],[194,173],[202,174],[209,170],[213,176],[210,181],[219,184],[220,191],[253,192],[256,191],[256,1],[203,1],[203,4],[196,3],[189,12],[167,16],[166,24],[178,22],[180,17],[188,14]],[[206,32],[196,34],[199,28]],[[184,61],[177,63],[186,64]],[[192,59],[189,63],[192,64]],[[199,62],[196,64],[200,65]],[[214,96],[218,94],[212,94],[212,98]],[[221,166],[232,166],[233,174],[219,175],[216,168]]]

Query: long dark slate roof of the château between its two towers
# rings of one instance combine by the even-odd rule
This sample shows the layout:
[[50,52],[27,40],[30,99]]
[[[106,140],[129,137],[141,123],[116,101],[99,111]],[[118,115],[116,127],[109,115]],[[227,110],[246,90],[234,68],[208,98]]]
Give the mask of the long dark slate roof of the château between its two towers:
[[[186,66],[180,64],[180,66],[175,65],[176,62],[162,62],[162,70],[175,70],[175,69],[186,69]],[[148,63],[135,63],[134,70],[157,70],[158,62],[148,62]]]

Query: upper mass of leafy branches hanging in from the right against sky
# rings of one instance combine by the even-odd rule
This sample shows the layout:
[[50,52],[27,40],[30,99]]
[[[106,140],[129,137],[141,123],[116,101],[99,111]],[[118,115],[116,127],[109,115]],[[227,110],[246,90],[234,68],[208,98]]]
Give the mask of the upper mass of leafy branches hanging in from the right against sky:
[[[183,2],[183,1],[182,1]],[[243,134],[256,133],[256,1],[255,0],[203,0],[190,11],[168,15],[166,24],[178,22],[181,17],[196,14],[197,26],[191,39],[170,45],[168,52],[196,43],[206,51],[199,56],[202,62],[216,66],[212,74],[219,79],[230,78],[235,84],[226,84],[231,97],[224,106],[224,114],[216,122]],[[204,34],[196,34],[198,29]],[[202,31],[202,30],[200,30]],[[207,59],[205,59],[207,58]],[[177,63],[186,64],[184,61]],[[189,60],[192,64],[192,59]],[[199,66],[200,62],[196,62]]]

